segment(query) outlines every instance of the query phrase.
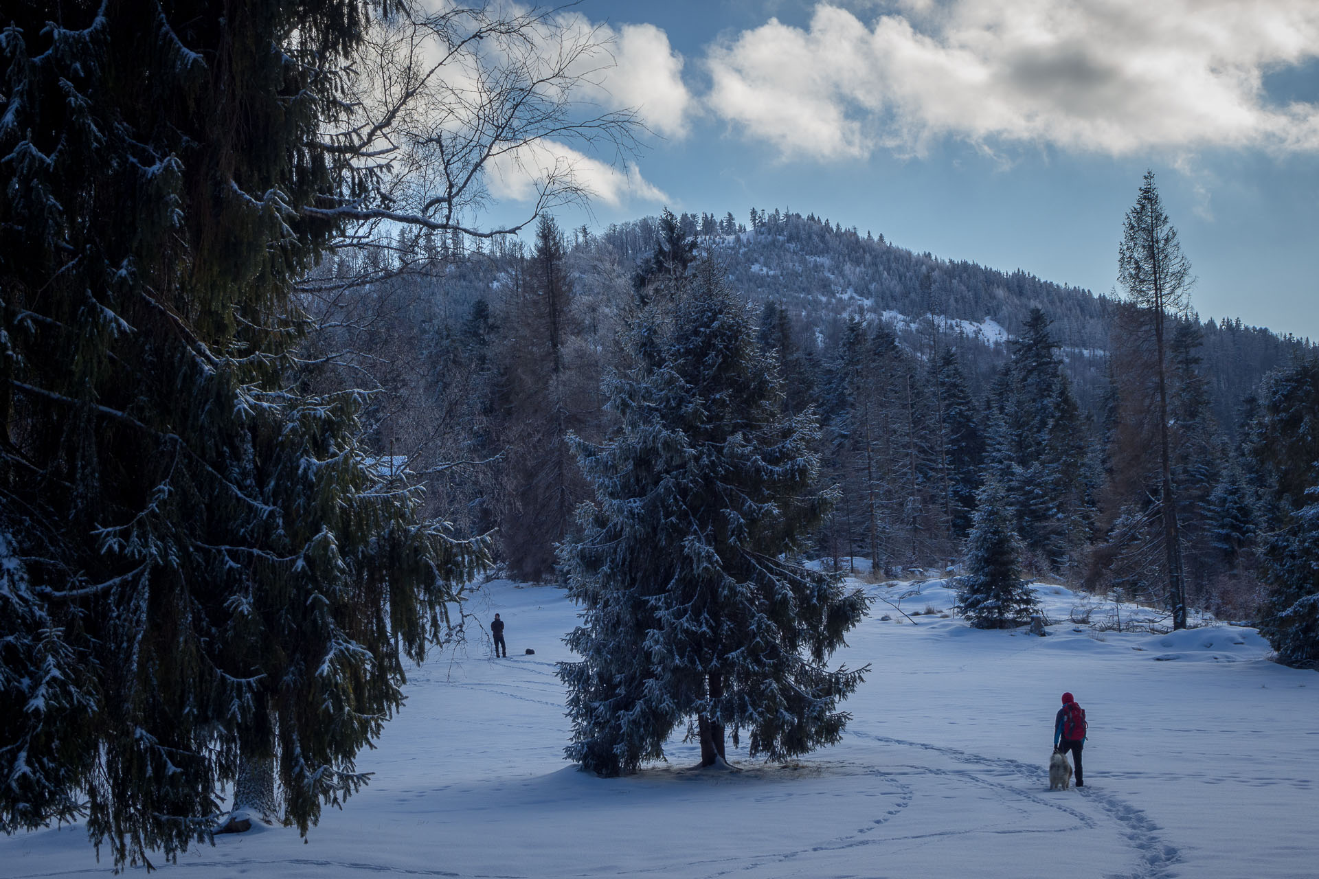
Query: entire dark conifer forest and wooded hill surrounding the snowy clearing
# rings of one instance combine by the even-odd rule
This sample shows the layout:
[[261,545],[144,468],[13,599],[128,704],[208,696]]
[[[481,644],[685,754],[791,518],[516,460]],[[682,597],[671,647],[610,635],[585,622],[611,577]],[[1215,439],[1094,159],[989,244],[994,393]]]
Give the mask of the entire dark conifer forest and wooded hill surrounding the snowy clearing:
[[776,204],[568,228],[561,162],[496,221],[546,138],[644,134],[549,11],[0,28],[5,833],[150,863],[235,793],[351,808],[492,571],[579,606],[563,746],[600,775],[689,723],[706,764],[836,742],[882,672],[831,660],[861,567],[960,577],[977,627],[1046,579],[1319,663],[1319,349],[1198,311],[1153,173],[1104,295]]

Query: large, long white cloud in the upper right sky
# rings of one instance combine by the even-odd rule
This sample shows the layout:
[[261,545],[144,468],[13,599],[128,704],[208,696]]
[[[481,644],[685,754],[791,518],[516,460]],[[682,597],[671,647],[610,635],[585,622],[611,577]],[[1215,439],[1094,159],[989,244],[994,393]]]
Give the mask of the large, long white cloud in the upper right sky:
[[1113,156],[1319,149],[1319,105],[1264,74],[1319,57],[1314,0],[905,0],[869,25],[819,4],[714,46],[710,107],[785,156],[919,154],[933,138]]

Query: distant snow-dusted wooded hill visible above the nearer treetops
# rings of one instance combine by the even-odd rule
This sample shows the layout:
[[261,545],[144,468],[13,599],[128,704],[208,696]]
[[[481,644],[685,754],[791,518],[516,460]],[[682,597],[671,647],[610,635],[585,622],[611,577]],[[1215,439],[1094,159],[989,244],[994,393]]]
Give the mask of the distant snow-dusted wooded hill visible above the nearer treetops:
[[[1001,271],[975,262],[917,253],[885,240],[832,225],[814,215],[753,210],[754,229],[731,213],[677,217],[681,231],[710,252],[729,287],[752,302],[774,302],[789,312],[795,343],[814,356],[839,343],[851,316],[882,320],[905,348],[922,357],[955,347],[971,389],[983,395],[1006,360],[1009,337],[1020,335],[1031,308],[1050,319],[1063,370],[1083,411],[1100,418],[1109,386],[1107,354],[1116,300],[1057,285],[1024,270]],[[574,283],[609,299],[627,299],[625,281],[654,252],[660,220],[641,217],[599,235],[565,232]],[[443,242],[447,245],[448,242]],[[525,256],[516,242],[433,246],[437,271],[415,282],[412,295],[433,299],[418,312],[439,327],[460,323],[476,300],[497,304],[500,290]],[[452,262],[456,260],[456,262]],[[423,274],[423,277],[426,277]],[[601,285],[613,283],[612,291]],[[617,304],[617,303],[615,303]],[[1308,339],[1278,335],[1232,316],[1192,316],[1200,329],[1199,357],[1215,420],[1236,436],[1242,401],[1260,378],[1310,347]]]

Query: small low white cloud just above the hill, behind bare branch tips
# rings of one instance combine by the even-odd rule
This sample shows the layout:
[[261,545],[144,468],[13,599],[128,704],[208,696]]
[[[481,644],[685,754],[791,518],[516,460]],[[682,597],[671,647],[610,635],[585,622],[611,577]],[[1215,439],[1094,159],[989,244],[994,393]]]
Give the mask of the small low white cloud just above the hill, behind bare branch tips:
[[586,156],[571,146],[542,140],[491,162],[485,186],[497,199],[534,202],[550,177],[580,187],[592,199],[611,207],[633,200],[662,203],[665,192],[641,177],[634,165],[621,167]]

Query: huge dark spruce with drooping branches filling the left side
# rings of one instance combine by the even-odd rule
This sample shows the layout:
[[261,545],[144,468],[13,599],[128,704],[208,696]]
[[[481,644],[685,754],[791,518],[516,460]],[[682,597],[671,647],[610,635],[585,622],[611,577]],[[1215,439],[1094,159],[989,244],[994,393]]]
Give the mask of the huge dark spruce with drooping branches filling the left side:
[[290,298],[367,191],[326,133],[375,4],[7,4],[0,828],[116,866],[206,838],[240,762],[303,830],[481,557],[383,486]]

